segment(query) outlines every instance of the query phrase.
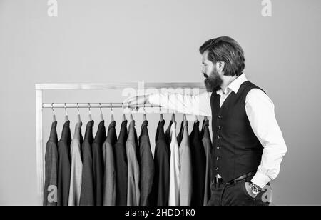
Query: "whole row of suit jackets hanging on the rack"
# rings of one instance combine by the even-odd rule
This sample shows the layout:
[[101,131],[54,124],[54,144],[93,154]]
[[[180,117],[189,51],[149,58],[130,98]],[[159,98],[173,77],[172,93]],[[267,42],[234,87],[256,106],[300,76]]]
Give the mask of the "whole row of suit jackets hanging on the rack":
[[45,154],[45,206],[203,206],[210,199],[209,121],[198,120],[188,132],[185,114],[176,134],[175,116],[165,130],[161,115],[154,156],[144,115],[141,134],[135,120],[123,116],[117,138],[113,119],[107,132],[103,119],[93,137],[94,121],[85,136],[81,120],[71,138],[70,121],[58,140],[57,121],[51,125]]

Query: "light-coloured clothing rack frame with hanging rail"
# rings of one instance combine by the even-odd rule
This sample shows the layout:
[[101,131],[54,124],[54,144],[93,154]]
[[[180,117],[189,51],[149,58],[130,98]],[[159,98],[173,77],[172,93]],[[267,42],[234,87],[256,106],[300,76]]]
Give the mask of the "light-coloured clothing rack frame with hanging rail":
[[[39,204],[43,204],[44,194],[44,139],[43,139],[43,109],[46,108],[126,108],[120,102],[104,102],[104,103],[43,103],[44,91],[47,90],[106,90],[106,89],[205,89],[202,83],[118,83],[118,84],[36,84],[36,160],[37,160],[37,187]],[[139,94],[138,94],[139,95]],[[151,104],[140,105],[136,107],[161,107]]]

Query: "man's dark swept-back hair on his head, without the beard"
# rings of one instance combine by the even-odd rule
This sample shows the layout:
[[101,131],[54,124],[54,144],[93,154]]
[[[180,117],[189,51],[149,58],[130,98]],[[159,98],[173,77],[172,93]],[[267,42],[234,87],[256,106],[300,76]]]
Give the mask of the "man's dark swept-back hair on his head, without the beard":
[[208,59],[215,64],[225,62],[225,76],[240,76],[245,69],[244,51],[237,41],[229,36],[210,39],[200,46],[200,54],[208,51]]

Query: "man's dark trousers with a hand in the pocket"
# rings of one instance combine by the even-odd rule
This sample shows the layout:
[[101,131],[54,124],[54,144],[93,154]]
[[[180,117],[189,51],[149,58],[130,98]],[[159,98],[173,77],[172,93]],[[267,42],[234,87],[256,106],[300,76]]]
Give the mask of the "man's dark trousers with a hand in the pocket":
[[212,181],[210,186],[212,192],[208,206],[268,206],[270,204],[268,199],[272,192],[270,188],[267,189],[270,184],[267,184],[267,187],[253,198],[245,189],[245,182],[250,181],[252,178],[253,176],[248,176],[233,184]]

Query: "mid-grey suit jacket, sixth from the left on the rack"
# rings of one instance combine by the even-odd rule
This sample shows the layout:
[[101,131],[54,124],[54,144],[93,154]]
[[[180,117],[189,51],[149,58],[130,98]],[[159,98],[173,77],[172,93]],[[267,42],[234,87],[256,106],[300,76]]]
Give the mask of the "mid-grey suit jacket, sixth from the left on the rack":
[[105,174],[103,177],[103,205],[115,206],[116,204],[116,171],[113,146],[117,141],[116,121],[111,121],[108,126],[108,135],[103,143],[103,161],[105,164]]

